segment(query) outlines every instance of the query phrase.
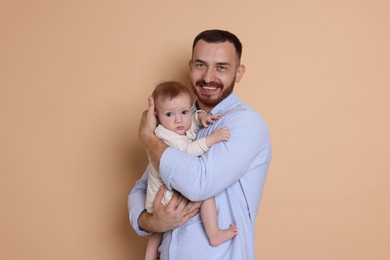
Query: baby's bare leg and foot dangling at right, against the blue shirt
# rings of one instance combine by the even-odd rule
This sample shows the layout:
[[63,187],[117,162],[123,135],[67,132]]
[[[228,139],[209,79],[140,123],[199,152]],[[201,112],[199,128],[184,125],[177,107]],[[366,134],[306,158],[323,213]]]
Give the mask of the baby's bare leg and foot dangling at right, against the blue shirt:
[[234,224],[230,224],[227,229],[219,229],[214,198],[203,201],[200,207],[200,216],[212,246],[218,246],[238,234],[237,227]]

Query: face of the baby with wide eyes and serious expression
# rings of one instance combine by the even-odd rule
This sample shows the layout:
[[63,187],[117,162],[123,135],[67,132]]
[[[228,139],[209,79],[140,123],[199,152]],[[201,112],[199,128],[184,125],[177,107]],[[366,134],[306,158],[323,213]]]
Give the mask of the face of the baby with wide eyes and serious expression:
[[182,94],[171,100],[158,98],[155,103],[159,123],[179,135],[185,135],[192,123],[190,96]]

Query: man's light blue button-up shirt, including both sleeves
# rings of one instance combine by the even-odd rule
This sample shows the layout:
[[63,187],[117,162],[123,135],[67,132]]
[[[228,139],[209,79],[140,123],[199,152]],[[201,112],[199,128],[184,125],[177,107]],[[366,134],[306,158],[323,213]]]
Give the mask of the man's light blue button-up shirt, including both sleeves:
[[[162,260],[251,260],[254,255],[256,214],[271,160],[269,130],[262,117],[233,93],[211,111],[221,118],[198,132],[198,138],[228,127],[230,140],[213,145],[195,157],[169,147],[160,160],[160,175],[168,189],[191,201],[215,197],[220,228],[237,225],[238,235],[212,247],[197,214],[184,225],[164,233]],[[148,166],[150,167],[150,166]],[[146,171],[147,172],[147,171]],[[130,222],[139,235],[137,220],[145,209],[147,174],[129,195]]]

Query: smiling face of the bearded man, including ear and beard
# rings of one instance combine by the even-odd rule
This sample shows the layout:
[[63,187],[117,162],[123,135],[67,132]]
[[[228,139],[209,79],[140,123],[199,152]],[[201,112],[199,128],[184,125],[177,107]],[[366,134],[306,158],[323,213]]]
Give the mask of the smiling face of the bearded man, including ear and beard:
[[190,80],[201,109],[210,111],[232,93],[245,67],[239,64],[234,45],[228,41],[200,40],[189,62]]

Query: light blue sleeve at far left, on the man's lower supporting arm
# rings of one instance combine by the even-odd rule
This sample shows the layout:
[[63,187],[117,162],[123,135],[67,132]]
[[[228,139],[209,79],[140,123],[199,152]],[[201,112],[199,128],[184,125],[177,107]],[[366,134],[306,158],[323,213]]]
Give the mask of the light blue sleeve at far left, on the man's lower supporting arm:
[[148,186],[149,167],[151,167],[150,164],[148,165],[145,173],[142,175],[142,178],[135,183],[127,200],[130,224],[133,227],[134,231],[140,236],[146,236],[151,234],[145,230],[142,230],[138,226],[138,218],[141,215],[141,213],[145,210],[146,188]]

